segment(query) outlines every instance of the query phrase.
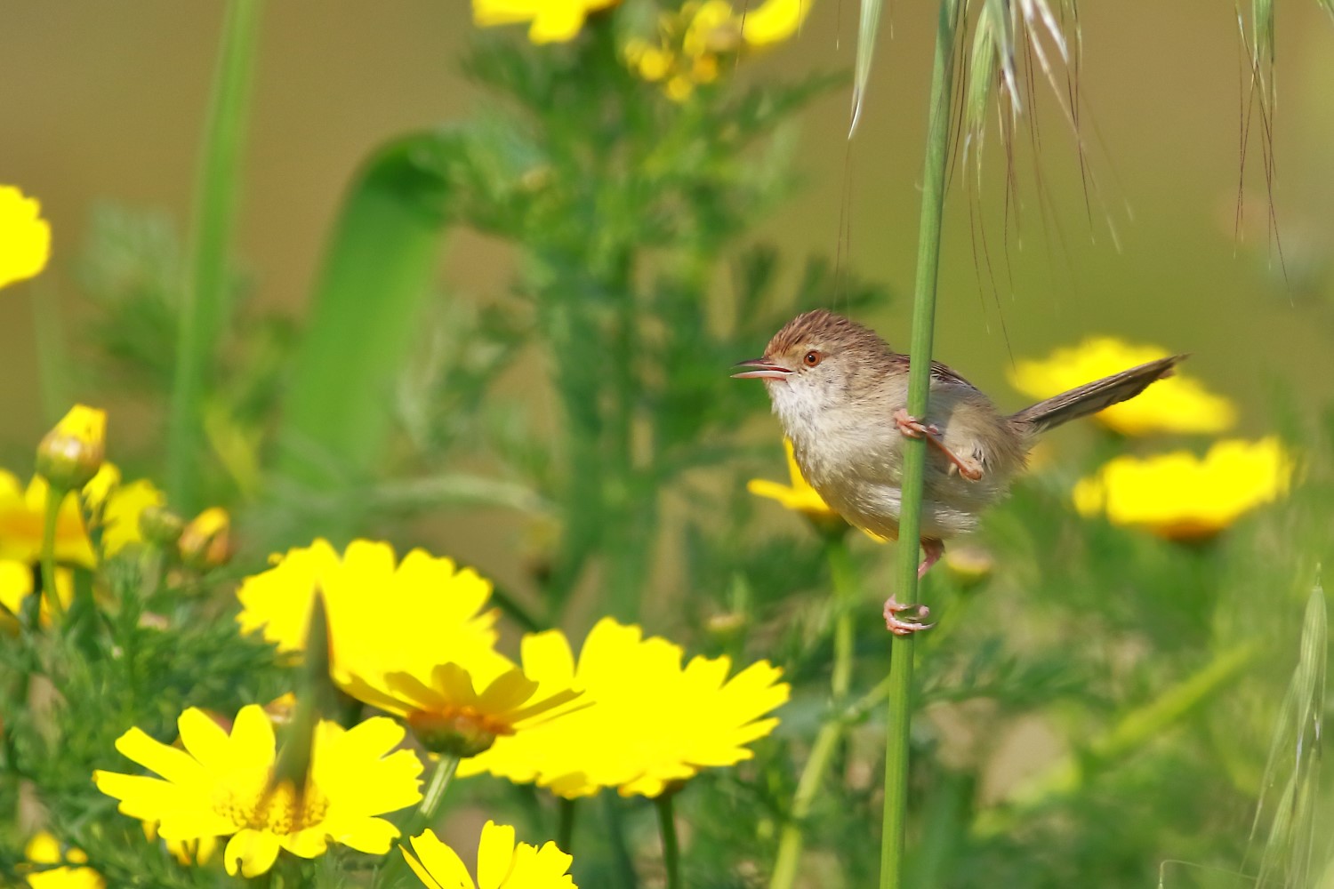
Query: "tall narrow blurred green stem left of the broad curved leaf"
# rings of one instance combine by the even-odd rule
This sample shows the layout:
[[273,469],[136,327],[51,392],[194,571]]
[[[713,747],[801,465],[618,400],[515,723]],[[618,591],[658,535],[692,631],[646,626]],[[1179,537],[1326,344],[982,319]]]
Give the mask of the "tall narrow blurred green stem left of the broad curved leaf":
[[231,307],[228,256],[240,197],[241,149],[259,44],[260,0],[227,4],[203,163],[195,189],[188,275],[180,293],[176,373],[168,415],[167,485],[172,506],[193,514],[203,446],[205,381]]

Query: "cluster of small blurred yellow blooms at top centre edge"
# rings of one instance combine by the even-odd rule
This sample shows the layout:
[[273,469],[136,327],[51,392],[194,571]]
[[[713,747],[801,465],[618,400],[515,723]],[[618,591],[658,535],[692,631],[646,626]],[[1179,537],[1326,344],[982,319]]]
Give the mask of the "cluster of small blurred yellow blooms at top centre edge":
[[787,40],[810,8],[810,0],[766,0],[736,12],[727,0],[687,0],[659,16],[656,40],[632,37],[622,55],[636,75],[684,101],[695,87],[718,79],[720,56]]

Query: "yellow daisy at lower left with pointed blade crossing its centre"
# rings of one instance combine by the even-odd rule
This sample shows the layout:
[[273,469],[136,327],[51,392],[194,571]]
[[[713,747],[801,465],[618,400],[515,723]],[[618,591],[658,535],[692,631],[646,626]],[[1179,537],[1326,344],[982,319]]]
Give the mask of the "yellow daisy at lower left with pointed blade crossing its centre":
[[379,817],[422,800],[422,762],[410,750],[392,752],[403,728],[376,717],[352,729],[321,721],[315,732],[304,793],[289,782],[269,789],[277,756],[273,725],[251,704],[236,714],[231,732],[191,708],[177,721],[181,748],[161,744],[137,728],[116,749],[161,778],[93,773],[97,789],[120,800],[120,812],[156,821],[164,840],[229,836],[227,873],[267,873],[280,849],[303,858],[323,854],[328,844],[384,854],[399,836]]

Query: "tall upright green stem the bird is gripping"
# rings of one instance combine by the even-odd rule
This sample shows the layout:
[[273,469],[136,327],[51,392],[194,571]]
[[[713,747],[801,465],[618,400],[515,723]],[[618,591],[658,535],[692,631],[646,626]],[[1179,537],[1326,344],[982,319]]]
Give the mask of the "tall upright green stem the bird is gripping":
[[[931,339],[935,329],[935,291],[940,271],[940,220],[944,215],[944,177],[950,160],[950,111],[954,95],[954,44],[959,0],[942,0],[931,72],[926,161],[922,171],[922,216],[918,227],[918,265],[912,295],[908,413],[927,416],[931,383]],[[903,506],[899,516],[900,601],[916,598],[918,541],[922,529],[922,473],[926,440],[903,443]],[[912,714],[911,636],[895,637],[890,649],[890,710],[884,737],[884,817],[880,833],[880,889],[903,885],[907,825],[908,729]]]

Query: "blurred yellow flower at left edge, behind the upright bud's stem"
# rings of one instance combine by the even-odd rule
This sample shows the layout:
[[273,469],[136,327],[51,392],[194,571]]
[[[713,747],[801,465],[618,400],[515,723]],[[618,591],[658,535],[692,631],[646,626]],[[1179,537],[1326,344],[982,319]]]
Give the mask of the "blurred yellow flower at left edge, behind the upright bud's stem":
[[[152,482],[120,482],[120,469],[105,462],[83,488],[83,496],[101,518],[101,545],[108,557],[143,537],[139,514],[161,505],[165,497]],[[27,488],[0,469],[0,560],[36,562],[41,553],[41,521],[47,512],[47,480],[33,476]],[[83,568],[96,562],[92,542],[84,532],[79,501],[65,497],[56,517],[56,561]]]

